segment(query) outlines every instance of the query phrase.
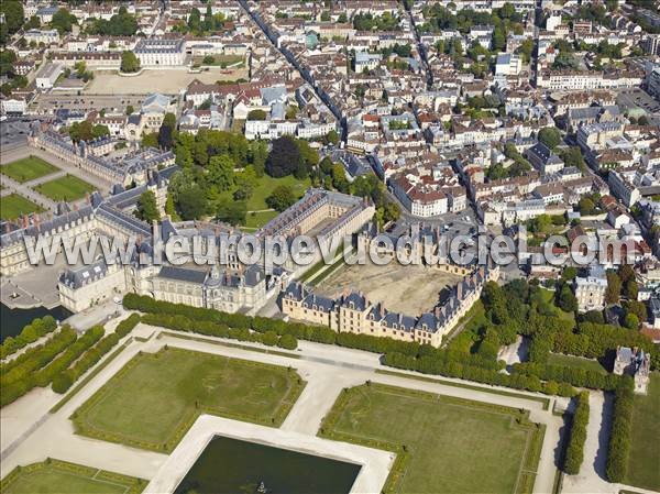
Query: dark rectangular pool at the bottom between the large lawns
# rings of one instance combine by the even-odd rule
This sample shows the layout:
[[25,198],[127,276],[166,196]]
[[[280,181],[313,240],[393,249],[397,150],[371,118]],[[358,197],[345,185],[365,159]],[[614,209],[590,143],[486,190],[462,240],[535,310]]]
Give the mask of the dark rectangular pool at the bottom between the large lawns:
[[348,494],[360,465],[216,437],[175,494]]

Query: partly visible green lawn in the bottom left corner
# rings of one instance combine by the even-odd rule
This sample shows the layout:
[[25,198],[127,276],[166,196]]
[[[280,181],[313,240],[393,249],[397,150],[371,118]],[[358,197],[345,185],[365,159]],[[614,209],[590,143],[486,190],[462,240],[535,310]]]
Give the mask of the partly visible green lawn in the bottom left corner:
[[2,480],[3,494],[139,494],[146,481],[59,460],[14,469]]

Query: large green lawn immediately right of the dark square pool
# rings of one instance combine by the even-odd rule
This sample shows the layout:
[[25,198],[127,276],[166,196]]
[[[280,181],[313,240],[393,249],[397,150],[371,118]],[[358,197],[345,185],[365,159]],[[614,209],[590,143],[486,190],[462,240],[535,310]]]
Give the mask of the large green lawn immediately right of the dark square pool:
[[542,428],[517,409],[378,384],[342,393],[320,435],[397,452],[385,492],[529,492]]

